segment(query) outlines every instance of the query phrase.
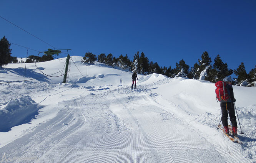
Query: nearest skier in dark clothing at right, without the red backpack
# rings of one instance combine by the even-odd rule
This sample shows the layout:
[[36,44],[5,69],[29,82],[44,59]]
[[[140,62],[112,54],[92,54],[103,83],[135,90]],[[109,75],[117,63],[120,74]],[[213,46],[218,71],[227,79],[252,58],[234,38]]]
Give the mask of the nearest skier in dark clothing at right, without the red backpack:
[[236,114],[234,110],[234,102],[236,102],[236,99],[234,98],[234,92],[233,87],[231,85],[232,79],[230,77],[225,77],[223,79],[224,82],[226,82],[226,89],[228,91],[229,100],[226,102],[221,102],[221,121],[224,126],[224,130],[226,133],[229,133],[228,129],[228,115],[230,118],[230,121],[232,123],[232,132],[234,135],[237,135],[237,123],[236,123]]

